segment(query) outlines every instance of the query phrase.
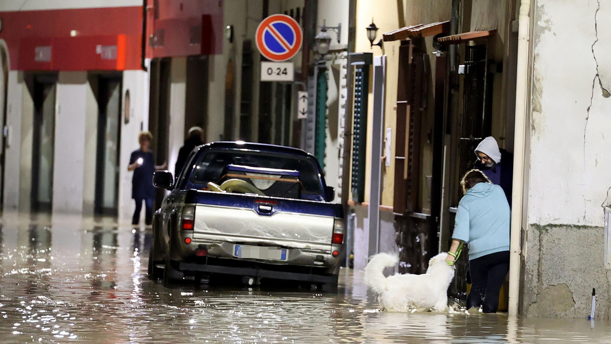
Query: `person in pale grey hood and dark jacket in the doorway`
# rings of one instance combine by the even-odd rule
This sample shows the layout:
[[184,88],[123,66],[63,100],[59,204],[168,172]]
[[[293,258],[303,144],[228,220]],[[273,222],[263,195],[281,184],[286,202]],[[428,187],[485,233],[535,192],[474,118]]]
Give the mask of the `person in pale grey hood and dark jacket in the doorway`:
[[499,144],[492,136],[483,139],[475,148],[474,169],[481,170],[493,184],[499,185],[511,207],[511,187],[513,185],[513,155],[507,150],[499,149]]

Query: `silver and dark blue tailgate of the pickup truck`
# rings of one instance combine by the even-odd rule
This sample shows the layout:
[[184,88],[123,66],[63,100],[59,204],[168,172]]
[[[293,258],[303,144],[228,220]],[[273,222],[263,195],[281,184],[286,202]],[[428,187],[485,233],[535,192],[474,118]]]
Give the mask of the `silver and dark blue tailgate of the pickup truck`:
[[331,248],[338,211],[334,204],[207,191],[199,194],[195,240]]

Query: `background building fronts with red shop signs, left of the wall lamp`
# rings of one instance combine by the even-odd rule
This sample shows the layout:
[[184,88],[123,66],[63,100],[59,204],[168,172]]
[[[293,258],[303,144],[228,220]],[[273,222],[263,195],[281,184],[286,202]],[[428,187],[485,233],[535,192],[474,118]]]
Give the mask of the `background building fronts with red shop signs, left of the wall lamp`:
[[[142,130],[172,172],[194,125],[205,141],[299,147],[296,95],[313,70],[316,11],[303,0],[0,5],[2,209],[128,221],[127,165]],[[259,80],[255,30],[274,13],[304,27],[294,83]]]

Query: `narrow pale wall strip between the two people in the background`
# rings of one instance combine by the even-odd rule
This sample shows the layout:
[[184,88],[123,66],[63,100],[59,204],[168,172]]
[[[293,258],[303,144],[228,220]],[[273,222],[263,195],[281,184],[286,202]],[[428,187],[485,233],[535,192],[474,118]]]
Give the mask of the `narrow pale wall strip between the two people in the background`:
[[174,171],[178,150],[185,142],[186,58],[172,58],[170,73],[170,137],[168,139],[170,155],[167,169]]

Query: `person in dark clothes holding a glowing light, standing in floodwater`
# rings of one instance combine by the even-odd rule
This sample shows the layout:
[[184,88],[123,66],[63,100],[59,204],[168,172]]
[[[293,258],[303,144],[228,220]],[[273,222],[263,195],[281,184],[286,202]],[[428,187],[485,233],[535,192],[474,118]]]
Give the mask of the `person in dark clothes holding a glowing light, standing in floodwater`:
[[131,178],[131,198],[136,201],[136,210],[131,224],[137,225],[140,220],[142,211],[142,201],[146,207],[145,223],[147,225],[153,222],[153,200],[155,199],[155,186],[153,186],[153,172],[155,170],[166,169],[167,164],[155,166],[155,158],[153,151],[150,150],[150,142],[153,135],[150,131],[142,131],[138,135],[140,149],[134,150],[130,156],[130,164],[127,166],[128,171],[134,171]]

